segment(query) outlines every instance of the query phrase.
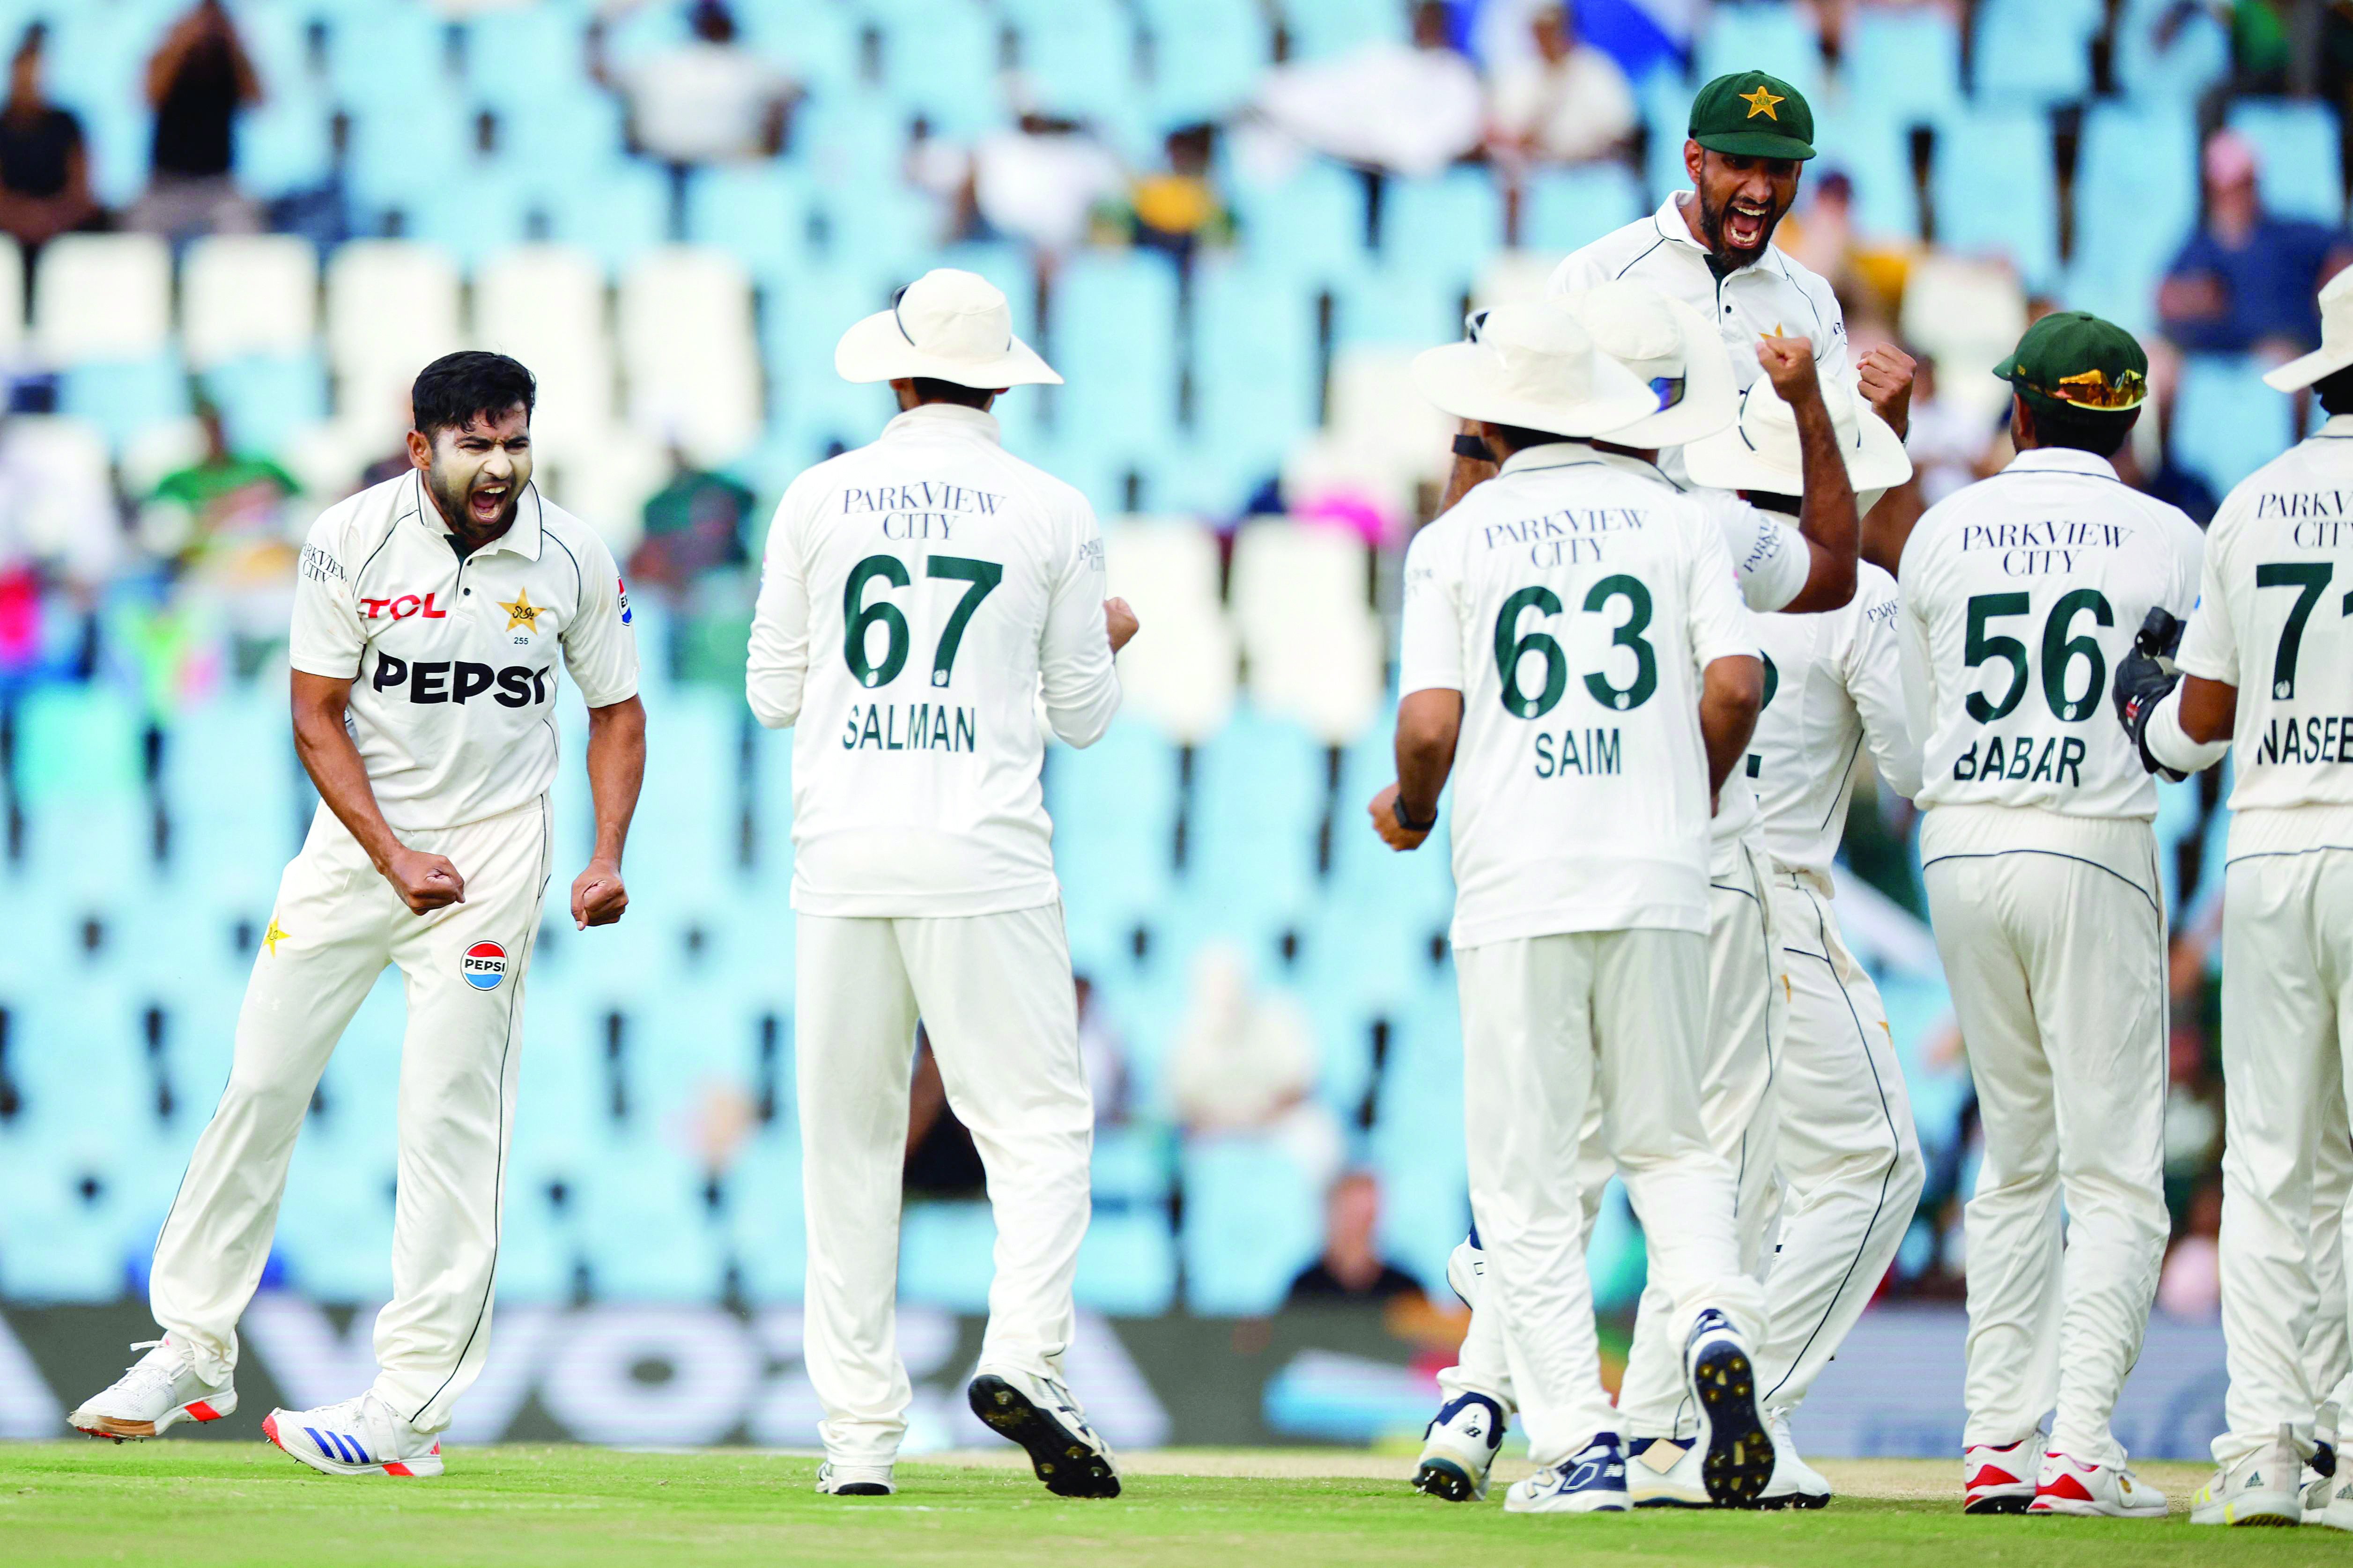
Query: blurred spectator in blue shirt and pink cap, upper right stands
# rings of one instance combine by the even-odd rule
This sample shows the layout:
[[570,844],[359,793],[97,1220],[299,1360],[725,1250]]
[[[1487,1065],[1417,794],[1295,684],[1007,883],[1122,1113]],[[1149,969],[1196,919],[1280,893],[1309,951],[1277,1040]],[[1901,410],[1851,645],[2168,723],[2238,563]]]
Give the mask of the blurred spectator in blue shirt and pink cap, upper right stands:
[[2292,360],[2320,346],[2315,299],[2353,261],[2353,242],[2339,228],[2266,212],[2257,174],[2245,136],[2207,141],[2205,221],[2158,287],[2158,317],[2181,350]]

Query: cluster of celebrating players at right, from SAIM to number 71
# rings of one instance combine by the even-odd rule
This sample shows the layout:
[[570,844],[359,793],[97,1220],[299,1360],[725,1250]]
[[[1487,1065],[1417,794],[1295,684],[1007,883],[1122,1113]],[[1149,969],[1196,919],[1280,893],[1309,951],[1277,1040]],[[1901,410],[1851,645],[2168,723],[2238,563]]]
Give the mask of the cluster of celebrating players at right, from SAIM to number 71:
[[[2327,423],[2209,536],[2118,482],[2148,360],[2082,313],[1993,367],[2017,458],[1906,520],[1878,498],[1908,475],[1908,360],[1849,367],[1828,289],[1767,244],[1809,136],[1786,82],[1711,82],[1694,190],[1414,367],[1464,435],[1407,555],[1372,818],[1417,849],[1454,785],[1475,1215],[1417,1486],[1485,1495],[1518,1413],[1539,1469],[1513,1512],[1831,1500],[1791,1410],[1920,1194],[1887,1018],[1831,914],[1868,745],[1922,806],[1984,1121],[1962,1505],[2165,1516],[2111,1429],[2167,1237],[2153,776],[2235,745],[2231,1429],[2191,1516],[2353,1528],[2353,275],[2322,292],[2325,346],[2271,376]],[[1614,1406],[1581,1260],[1612,1171],[1649,1244]]]

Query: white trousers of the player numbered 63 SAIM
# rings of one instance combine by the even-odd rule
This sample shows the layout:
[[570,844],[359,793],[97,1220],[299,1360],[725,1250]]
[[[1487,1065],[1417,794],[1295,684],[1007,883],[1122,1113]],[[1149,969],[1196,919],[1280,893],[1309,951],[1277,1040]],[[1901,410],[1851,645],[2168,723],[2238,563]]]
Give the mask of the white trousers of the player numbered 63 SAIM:
[[1529,1458],[1553,1465],[1619,1415],[1600,1378],[1577,1154],[1595,1105],[1671,1302],[1678,1359],[1692,1316],[1755,1333],[1734,1173],[1701,1119],[1708,945],[1697,931],[1581,931],[1454,954],[1464,1016],[1471,1213],[1487,1253],[1478,1319],[1501,1340]]

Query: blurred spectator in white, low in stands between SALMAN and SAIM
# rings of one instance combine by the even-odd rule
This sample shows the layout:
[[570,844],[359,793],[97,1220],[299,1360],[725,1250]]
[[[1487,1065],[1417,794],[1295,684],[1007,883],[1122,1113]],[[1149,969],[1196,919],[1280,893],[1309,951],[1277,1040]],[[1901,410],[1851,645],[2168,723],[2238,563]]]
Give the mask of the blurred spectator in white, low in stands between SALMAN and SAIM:
[[1339,1171],[1339,1119],[1313,1098],[1315,1027],[1297,997],[1261,992],[1231,943],[1193,961],[1193,994],[1167,1086],[1188,1138],[1261,1135],[1282,1145],[1313,1182]]

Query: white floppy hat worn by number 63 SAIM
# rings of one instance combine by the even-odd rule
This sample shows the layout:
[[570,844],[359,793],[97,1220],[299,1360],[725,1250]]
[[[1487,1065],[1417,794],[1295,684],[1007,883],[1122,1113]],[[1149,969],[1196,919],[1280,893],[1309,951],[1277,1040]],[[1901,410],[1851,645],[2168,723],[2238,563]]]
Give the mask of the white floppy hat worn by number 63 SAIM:
[[1414,386],[1457,418],[1567,437],[1609,435],[1659,407],[1562,299],[1497,306],[1471,343],[1414,355]]

